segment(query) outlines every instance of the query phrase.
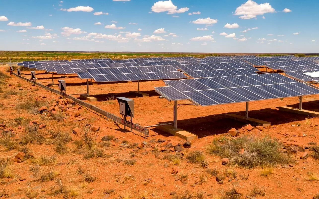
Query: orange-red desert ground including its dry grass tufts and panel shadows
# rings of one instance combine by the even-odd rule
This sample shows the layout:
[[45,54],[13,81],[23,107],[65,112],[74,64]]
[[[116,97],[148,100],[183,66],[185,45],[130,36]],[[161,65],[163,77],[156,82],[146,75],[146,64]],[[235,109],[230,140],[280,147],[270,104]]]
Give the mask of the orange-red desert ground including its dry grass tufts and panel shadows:
[[[1,70],[4,72],[4,67]],[[50,82],[50,77],[50,74],[37,72],[38,82],[46,82],[43,83],[45,85]],[[57,79],[59,78],[55,81]],[[84,80],[74,77],[65,80],[68,94],[86,93]],[[184,144],[185,141],[178,137],[151,129],[150,136],[144,139],[138,132],[125,132],[122,125],[103,119],[79,105],[14,76],[2,79],[1,82],[0,120],[3,122],[3,132],[0,158],[11,160],[8,161],[6,175],[0,179],[2,197],[236,198],[225,196],[226,191],[231,188],[241,193],[241,198],[246,195],[254,198],[254,188],[265,190],[264,196],[256,195],[256,198],[310,199],[319,193],[318,160],[311,156],[312,151],[308,149],[318,142],[319,119],[279,112],[276,108],[283,105],[298,106],[297,98],[249,103],[250,117],[270,121],[272,124],[271,127],[252,131],[243,127],[243,123],[225,118],[227,113],[243,115],[244,103],[210,107],[179,106],[178,126],[198,134],[199,137],[191,143],[191,148],[181,147],[181,153],[172,152],[173,149],[169,148],[162,149],[169,143],[172,143],[172,146]],[[173,102],[159,99],[154,92],[154,87],[157,86],[164,86],[163,81],[140,83],[140,90],[149,93],[150,97],[136,97],[129,93],[130,90],[137,90],[137,82],[90,85],[90,94],[98,98],[98,102],[92,104],[116,115],[119,115],[116,97],[134,99],[136,116],[133,121],[142,126],[172,122]],[[304,97],[303,108],[319,111],[317,99],[317,95]],[[56,112],[38,111],[40,106],[46,106],[50,110],[52,105]],[[85,131],[90,125],[99,127],[99,130]],[[38,129],[40,126],[41,129]],[[76,127],[78,131],[75,134],[72,129]],[[231,128],[239,129],[239,137],[271,136],[282,144],[293,143],[301,146],[300,150],[305,148],[309,157],[300,159],[303,151],[293,153],[290,164],[275,166],[272,173],[266,177],[262,176],[262,167],[246,169],[238,165],[222,165],[222,157],[211,155],[206,149],[214,139],[223,136],[232,138],[227,133]],[[36,132],[32,129],[36,129]],[[52,136],[52,130],[59,132],[59,136]],[[91,147],[86,144],[83,131],[89,134],[86,138],[92,138]],[[300,133],[302,136],[298,136]],[[26,142],[26,137],[31,135],[35,136]],[[111,136],[111,141],[101,141],[106,135]],[[10,149],[8,144],[4,144],[9,142],[4,141],[8,136],[12,143]],[[203,152],[208,165],[191,163],[186,158],[197,150]],[[282,150],[287,152],[286,149]],[[26,152],[26,157],[21,160],[15,158],[20,151]],[[171,160],[167,158],[170,154],[177,154],[181,158]],[[177,174],[172,174],[172,170],[176,172],[176,167]],[[221,184],[207,169],[216,169],[219,175],[224,177],[226,170],[235,170],[237,174],[234,179],[228,175]],[[316,174],[317,179],[309,179],[309,172]],[[189,190],[193,196],[182,197],[181,193],[185,190]],[[171,192],[176,192],[176,195],[171,195]]]

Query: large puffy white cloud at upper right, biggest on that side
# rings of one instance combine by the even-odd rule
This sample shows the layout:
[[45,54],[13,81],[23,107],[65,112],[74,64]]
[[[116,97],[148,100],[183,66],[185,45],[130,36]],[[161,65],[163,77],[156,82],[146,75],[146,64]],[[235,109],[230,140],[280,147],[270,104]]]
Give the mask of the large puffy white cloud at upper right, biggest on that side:
[[236,8],[234,15],[241,15],[239,17],[240,19],[253,19],[256,18],[257,15],[271,12],[275,12],[275,9],[272,8],[269,3],[257,4],[252,0],[248,0]]

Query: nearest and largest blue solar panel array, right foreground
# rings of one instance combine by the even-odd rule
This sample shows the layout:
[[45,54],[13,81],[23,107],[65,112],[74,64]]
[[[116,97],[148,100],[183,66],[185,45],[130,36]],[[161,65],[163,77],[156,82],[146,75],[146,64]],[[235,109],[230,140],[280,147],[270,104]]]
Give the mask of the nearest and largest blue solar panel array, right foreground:
[[168,100],[188,97],[201,106],[319,94],[318,89],[278,73],[164,82],[169,88],[155,88],[160,95]]

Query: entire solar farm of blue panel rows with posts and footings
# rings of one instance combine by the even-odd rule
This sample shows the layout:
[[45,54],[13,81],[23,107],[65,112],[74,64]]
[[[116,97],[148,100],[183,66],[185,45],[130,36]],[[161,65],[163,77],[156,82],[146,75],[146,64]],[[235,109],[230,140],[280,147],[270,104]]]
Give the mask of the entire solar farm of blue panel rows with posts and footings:
[[[149,57],[122,60],[107,58],[25,61],[19,65],[34,69],[35,72],[52,73],[52,83],[54,83],[54,74],[78,77],[72,80],[65,79],[65,88],[68,90],[70,82],[75,82],[71,89],[74,94],[69,95],[80,95],[80,99],[90,102],[98,101],[100,96],[109,94],[109,91],[107,93],[97,91],[95,88],[98,85],[100,85],[99,88],[106,89],[122,87],[121,93],[114,94],[116,97],[145,96],[139,99],[140,103],[142,101],[151,103],[154,96],[174,101],[174,125],[151,126],[172,134],[182,132],[180,136],[190,140],[196,138],[196,135],[177,128],[178,101],[188,100],[190,103],[187,105],[195,104],[198,107],[246,103],[245,116],[228,114],[227,117],[263,126],[270,125],[270,122],[250,118],[250,102],[299,97],[299,109],[286,108],[286,111],[319,115],[319,113],[302,110],[303,96],[319,94],[319,89],[307,83],[316,83],[316,80],[319,80],[319,60],[316,58],[295,56]],[[256,66],[265,66],[272,70],[266,73],[258,70]],[[275,70],[283,71],[286,76],[274,73]],[[35,76],[39,75],[43,76],[41,79],[48,78],[48,75],[42,72],[34,73],[32,79],[36,79]],[[140,82],[144,81],[153,82],[145,83],[145,85],[152,85],[152,88],[155,88],[155,94],[151,90],[140,91]],[[132,85],[136,86],[135,82],[137,91],[132,89]],[[81,83],[86,83],[86,93],[76,93],[79,92],[78,90],[83,90],[79,89],[84,88],[81,87]],[[90,87],[94,90],[93,95],[89,92],[89,85],[93,85]],[[67,92],[70,93],[70,91]],[[158,106],[158,101],[154,106]],[[285,110],[285,108],[279,109]],[[138,115],[137,110],[135,114]]]

